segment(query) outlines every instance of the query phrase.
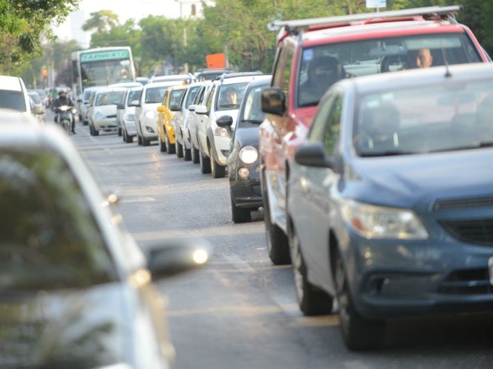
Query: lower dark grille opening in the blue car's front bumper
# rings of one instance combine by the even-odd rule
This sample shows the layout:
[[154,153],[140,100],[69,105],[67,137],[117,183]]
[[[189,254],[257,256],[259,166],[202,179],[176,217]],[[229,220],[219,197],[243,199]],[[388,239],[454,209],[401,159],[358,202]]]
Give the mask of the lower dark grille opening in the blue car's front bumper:
[[487,268],[454,271],[440,283],[439,293],[473,295],[493,293]]

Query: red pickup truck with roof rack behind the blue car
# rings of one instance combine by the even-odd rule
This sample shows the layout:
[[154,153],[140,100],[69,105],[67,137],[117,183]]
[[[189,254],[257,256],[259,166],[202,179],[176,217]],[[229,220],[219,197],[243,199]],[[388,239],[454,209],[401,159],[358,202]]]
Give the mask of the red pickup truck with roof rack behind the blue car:
[[422,66],[422,51],[431,55],[431,67],[488,62],[471,30],[456,22],[460,9],[431,6],[274,24],[281,31],[271,86],[262,92],[266,118],[259,130],[267,248],[274,264],[290,263],[285,233],[290,164],[326,89],[341,78]]

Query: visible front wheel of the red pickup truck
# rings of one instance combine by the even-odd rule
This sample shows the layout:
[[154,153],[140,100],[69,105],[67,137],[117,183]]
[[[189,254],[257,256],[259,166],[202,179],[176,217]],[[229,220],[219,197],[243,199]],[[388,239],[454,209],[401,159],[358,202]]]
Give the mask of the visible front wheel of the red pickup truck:
[[[265,174],[262,173],[262,182],[265,182]],[[265,232],[267,234],[267,252],[269,252],[269,257],[275,265],[290,264],[290,247],[287,241],[287,236],[278,227],[278,225],[273,224],[271,221],[270,210],[269,210],[269,196],[267,191],[265,191],[265,186],[262,185],[262,198],[264,201],[264,223]]]

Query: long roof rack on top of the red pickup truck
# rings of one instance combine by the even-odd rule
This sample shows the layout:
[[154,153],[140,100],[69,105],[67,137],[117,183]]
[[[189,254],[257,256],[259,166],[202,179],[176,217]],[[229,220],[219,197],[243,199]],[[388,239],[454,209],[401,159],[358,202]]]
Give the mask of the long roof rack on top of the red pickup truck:
[[453,12],[462,10],[462,8],[463,8],[462,5],[427,6],[424,8],[390,10],[387,12],[367,12],[362,14],[340,15],[336,17],[294,19],[291,21],[274,21],[271,22],[269,26],[284,27],[285,31],[290,33],[296,33],[301,31],[302,28],[308,28],[308,26],[321,26],[325,24],[358,22],[358,21],[365,21],[369,19],[378,19],[378,18],[412,17],[417,15],[422,15],[422,16],[443,15],[455,19]]

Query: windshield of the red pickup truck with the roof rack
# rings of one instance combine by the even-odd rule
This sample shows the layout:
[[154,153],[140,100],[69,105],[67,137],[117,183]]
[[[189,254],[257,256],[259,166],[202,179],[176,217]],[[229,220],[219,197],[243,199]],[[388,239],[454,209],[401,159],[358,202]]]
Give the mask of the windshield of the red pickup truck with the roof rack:
[[432,66],[481,62],[465,34],[446,33],[381,37],[355,42],[325,44],[303,49],[296,101],[299,107],[315,106],[337,80],[417,67],[417,52],[429,49]]

